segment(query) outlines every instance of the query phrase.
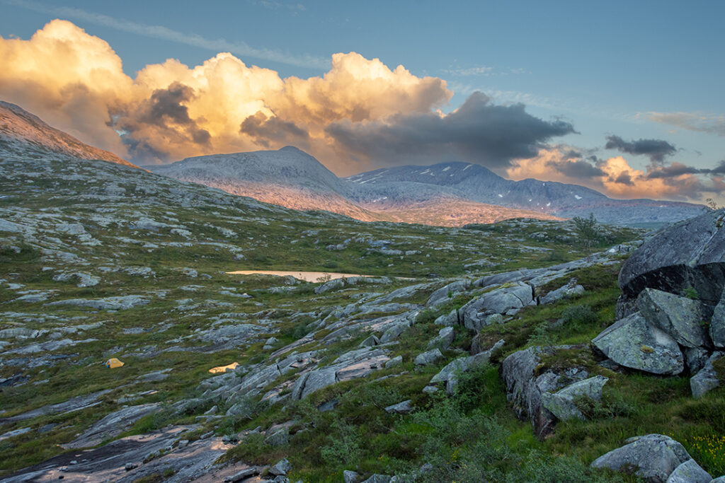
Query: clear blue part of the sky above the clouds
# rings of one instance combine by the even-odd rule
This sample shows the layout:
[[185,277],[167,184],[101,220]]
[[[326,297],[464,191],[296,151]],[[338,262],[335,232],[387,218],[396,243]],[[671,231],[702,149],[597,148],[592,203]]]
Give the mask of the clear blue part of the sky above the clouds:
[[[247,65],[307,78],[354,51],[446,80],[445,113],[481,91],[571,122],[576,133],[550,142],[602,159],[622,154],[603,148],[608,135],[666,140],[677,150],[668,161],[688,167],[725,159],[721,1],[0,0],[0,12],[6,39],[70,20],[107,41],[130,77],[168,58],[193,67],[231,50]],[[626,159],[634,169],[652,162]]]

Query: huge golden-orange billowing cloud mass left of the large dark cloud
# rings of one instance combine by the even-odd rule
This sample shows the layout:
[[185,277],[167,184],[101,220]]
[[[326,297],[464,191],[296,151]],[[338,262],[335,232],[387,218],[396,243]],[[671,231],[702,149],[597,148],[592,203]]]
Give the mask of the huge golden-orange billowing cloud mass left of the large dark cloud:
[[294,142],[349,172],[326,135],[331,122],[431,112],[452,96],[444,80],[355,52],[334,54],[328,72],[307,79],[283,79],[228,53],[196,67],[168,59],[131,78],[107,42],[65,20],[28,41],[0,38],[0,58],[0,98],[138,162]]

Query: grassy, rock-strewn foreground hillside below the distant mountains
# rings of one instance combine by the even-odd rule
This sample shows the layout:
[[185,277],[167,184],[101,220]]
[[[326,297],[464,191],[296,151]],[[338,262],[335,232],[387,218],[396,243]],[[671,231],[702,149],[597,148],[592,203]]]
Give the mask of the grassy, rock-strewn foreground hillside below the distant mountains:
[[722,211],[587,261],[571,222],[359,222],[17,139],[0,193],[3,481],[725,474]]

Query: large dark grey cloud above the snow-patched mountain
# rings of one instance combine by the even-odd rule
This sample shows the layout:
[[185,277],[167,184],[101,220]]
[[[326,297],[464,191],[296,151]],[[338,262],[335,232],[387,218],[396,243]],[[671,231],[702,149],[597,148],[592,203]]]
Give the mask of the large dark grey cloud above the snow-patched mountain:
[[523,104],[497,106],[476,92],[457,111],[396,115],[385,122],[334,122],[326,127],[339,151],[377,164],[465,160],[497,169],[537,155],[551,138],[576,133],[569,122],[531,116]]

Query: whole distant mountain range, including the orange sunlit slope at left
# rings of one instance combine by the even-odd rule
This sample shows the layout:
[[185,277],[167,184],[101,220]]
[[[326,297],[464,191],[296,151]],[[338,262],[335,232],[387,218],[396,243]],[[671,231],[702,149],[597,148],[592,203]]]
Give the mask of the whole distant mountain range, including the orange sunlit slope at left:
[[[80,159],[137,167],[82,143],[20,106],[0,101],[0,143],[22,140]],[[595,190],[560,182],[506,180],[479,164],[376,169],[334,175],[310,154],[286,146],[277,151],[195,156],[145,167],[177,180],[219,188],[298,210],[324,210],[363,221],[463,226],[511,218],[563,219],[595,214],[616,224],[675,222],[704,206],[647,199],[616,200]]]

